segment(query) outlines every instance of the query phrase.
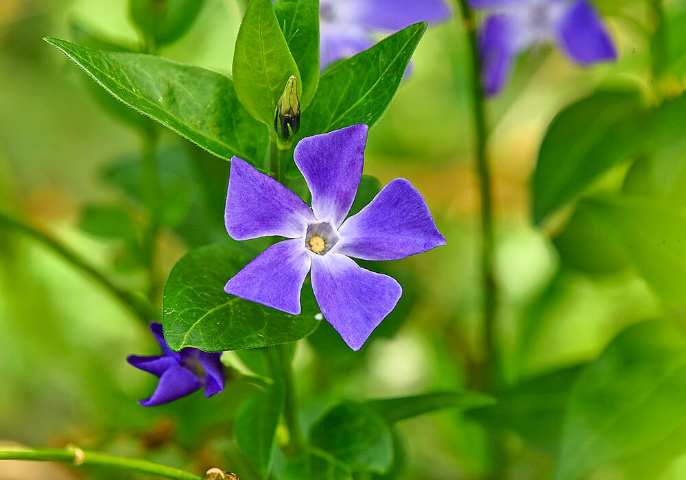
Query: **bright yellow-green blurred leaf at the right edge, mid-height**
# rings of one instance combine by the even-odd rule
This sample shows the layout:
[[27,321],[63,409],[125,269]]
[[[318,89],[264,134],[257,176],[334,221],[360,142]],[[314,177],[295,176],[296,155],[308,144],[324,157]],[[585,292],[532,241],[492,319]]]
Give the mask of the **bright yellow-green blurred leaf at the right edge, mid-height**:
[[[578,210],[593,218],[613,245],[622,246],[626,258],[667,304],[683,307],[686,219],[680,211],[646,197],[589,198]],[[600,243],[591,254],[605,249]]]

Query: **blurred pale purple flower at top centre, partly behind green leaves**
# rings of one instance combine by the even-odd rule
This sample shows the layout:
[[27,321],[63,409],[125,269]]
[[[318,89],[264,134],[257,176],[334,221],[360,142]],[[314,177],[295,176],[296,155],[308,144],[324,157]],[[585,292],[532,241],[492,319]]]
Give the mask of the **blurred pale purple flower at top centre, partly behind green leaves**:
[[322,69],[368,49],[379,32],[395,32],[421,21],[441,21],[449,15],[443,0],[321,0]]

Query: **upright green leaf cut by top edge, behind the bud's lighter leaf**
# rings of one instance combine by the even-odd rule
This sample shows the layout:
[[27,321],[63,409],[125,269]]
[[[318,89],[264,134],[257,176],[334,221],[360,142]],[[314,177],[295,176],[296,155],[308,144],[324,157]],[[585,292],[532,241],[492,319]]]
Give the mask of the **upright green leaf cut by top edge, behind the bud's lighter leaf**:
[[300,110],[305,110],[319,84],[319,0],[276,0],[274,13],[298,64],[303,82]]

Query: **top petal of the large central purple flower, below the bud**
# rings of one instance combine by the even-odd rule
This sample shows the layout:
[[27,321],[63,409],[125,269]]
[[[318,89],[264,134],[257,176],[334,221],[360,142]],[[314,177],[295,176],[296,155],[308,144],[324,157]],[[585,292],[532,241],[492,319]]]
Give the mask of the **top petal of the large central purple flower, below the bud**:
[[366,143],[364,123],[298,143],[296,165],[312,193],[312,209],[319,221],[338,227],[348,215],[362,178]]

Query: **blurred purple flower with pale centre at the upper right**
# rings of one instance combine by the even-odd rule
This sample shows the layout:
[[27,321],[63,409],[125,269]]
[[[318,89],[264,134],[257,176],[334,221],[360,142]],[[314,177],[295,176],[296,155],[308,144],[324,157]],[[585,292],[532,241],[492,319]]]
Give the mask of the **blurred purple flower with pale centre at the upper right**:
[[480,35],[486,95],[504,86],[514,58],[537,43],[556,43],[577,64],[615,60],[617,51],[588,0],[470,0],[491,13]]

